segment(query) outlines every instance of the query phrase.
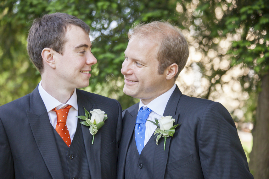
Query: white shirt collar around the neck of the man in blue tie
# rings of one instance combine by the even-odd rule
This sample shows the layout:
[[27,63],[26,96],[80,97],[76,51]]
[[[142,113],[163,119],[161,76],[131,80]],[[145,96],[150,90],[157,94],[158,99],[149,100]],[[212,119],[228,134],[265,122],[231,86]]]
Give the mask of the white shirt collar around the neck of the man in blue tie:
[[147,105],[144,105],[144,103],[140,99],[138,111],[140,110],[141,107],[143,107],[143,109],[146,109],[148,107],[149,109],[151,109],[158,115],[163,116],[167,102],[175,89],[176,89],[176,84],[174,84],[172,88],[170,88],[170,90],[166,91],[164,94],[150,101],[150,103]]

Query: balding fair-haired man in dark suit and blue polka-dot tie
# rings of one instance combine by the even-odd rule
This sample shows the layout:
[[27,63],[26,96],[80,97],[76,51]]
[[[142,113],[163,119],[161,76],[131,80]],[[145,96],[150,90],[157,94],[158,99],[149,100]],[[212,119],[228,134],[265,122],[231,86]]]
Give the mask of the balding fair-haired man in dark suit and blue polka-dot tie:
[[140,102],[123,111],[117,179],[252,179],[225,107],[175,84],[189,53],[177,27],[138,24],[128,37],[123,92]]

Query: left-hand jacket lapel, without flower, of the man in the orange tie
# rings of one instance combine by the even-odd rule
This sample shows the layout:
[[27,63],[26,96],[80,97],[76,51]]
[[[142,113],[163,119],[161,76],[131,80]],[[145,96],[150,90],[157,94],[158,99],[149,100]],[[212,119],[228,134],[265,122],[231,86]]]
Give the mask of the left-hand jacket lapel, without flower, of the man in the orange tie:
[[38,91],[38,85],[31,93],[30,101],[31,108],[30,111],[26,111],[26,114],[36,145],[51,176],[55,179],[64,178],[62,173],[64,170],[61,165],[55,136],[53,134],[53,130],[55,129],[49,121],[48,112]]

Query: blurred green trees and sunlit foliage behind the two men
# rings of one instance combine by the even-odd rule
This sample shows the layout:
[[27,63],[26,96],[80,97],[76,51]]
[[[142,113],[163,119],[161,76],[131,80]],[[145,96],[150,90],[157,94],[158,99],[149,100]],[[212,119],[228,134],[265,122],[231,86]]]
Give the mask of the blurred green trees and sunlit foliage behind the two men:
[[115,98],[123,109],[138,102],[122,92],[129,28],[160,19],[177,25],[190,49],[176,81],[180,90],[221,102],[240,131],[249,132],[254,124],[249,167],[255,178],[269,178],[267,0],[2,0],[0,105],[31,93],[41,80],[27,57],[26,39],[33,19],[54,12],[74,15],[91,27],[98,63],[84,90]]

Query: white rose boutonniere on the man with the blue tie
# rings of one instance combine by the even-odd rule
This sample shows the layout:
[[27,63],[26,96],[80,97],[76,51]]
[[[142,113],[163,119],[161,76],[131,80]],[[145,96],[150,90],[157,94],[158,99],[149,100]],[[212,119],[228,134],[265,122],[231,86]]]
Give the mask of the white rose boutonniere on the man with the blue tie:
[[153,121],[149,121],[149,122],[152,122],[154,125],[157,126],[154,132],[154,135],[158,134],[156,138],[156,144],[158,145],[158,141],[161,137],[165,138],[165,142],[164,142],[164,150],[165,150],[165,143],[166,143],[167,137],[169,136],[173,137],[175,133],[175,128],[181,123],[173,126],[175,119],[173,119],[171,116],[162,116],[160,117],[160,119],[155,118],[155,122]]

